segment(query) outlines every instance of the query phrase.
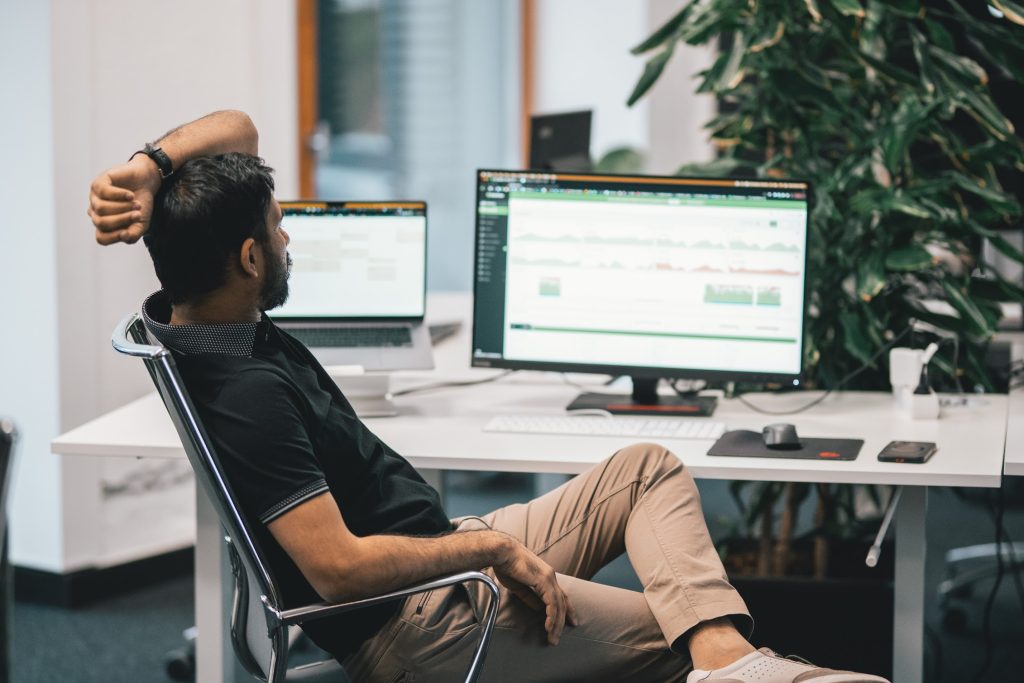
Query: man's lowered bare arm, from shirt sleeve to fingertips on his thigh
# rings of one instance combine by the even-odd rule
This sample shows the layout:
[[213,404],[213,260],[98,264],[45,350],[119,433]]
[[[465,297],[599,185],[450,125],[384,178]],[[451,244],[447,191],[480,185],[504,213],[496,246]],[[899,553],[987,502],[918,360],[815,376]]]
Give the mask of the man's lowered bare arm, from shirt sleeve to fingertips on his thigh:
[[575,611],[551,566],[501,531],[432,538],[354,536],[330,494],[322,494],[271,521],[267,528],[306,581],[326,600],[357,600],[455,571],[492,566],[499,581],[545,612],[548,642],[557,645]]

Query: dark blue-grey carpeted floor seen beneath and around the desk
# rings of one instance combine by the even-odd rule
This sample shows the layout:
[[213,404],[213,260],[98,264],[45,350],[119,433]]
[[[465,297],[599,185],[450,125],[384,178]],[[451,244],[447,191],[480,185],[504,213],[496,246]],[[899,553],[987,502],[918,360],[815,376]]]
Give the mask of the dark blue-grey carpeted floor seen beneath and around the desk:
[[[500,505],[528,500],[532,478],[522,475],[447,477],[449,512],[453,516],[481,513]],[[733,512],[724,482],[700,482],[712,533],[722,532],[716,520]],[[1017,507],[1007,514],[1013,538],[1024,540],[1024,496],[1013,492]],[[946,549],[989,543],[994,530],[987,509],[945,489],[930,498],[929,595],[943,574]],[[606,567],[598,579],[612,585],[639,588],[625,558]],[[991,582],[962,602],[968,616],[964,635],[942,631],[936,604],[928,612],[926,653],[928,683],[966,683],[984,660],[981,615]],[[986,681],[1024,681],[1024,596],[1005,581],[991,620],[992,665]],[[755,617],[757,615],[755,614]],[[828,623],[831,615],[825,615]],[[182,645],[181,633],[193,623],[193,585],[187,578],[119,596],[75,610],[18,603],[14,608],[12,642],[13,681],[133,681],[165,682],[167,653]],[[770,645],[771,643],[757,643]]]

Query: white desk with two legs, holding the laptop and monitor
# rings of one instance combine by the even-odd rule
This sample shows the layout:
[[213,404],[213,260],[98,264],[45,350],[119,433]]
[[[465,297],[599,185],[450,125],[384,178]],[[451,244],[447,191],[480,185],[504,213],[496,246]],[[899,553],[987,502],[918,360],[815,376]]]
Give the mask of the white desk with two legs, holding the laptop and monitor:
[[[435,300],[432,300],[435,301]],[[453,303],[454,302],[454,303]],[[445,302],[451,310],[466,305]],[[445,375],[486,376],[465,369],[465,331],[438,348]],[[463,370],[458,370],[459,366]],[[409,374],[400,385],[437,381],[436,375]],[[557,376],[513,375],[496,384],[443,389],[398,399],[398,418],[368,420],[370,427],[418,468],[579,473],[633,439],[492,434],[482,431],[496,413],[560,412],[579,391]],[[806,395],[750,397],[765,408],[801,404]],[[894,682],[923,679],[925,515],[928,486],[998,486],[1007,436],[1006,396],[985,396],[950,409],[938,421],[912,421],[890,410],[888,394],[837,394],[807,413],[782,418],[805,436],[863,438],[851,462],[709,458],[710,440],[666,440],[695,477],[880,483],[907,486],[897,517]],[[736,401],[724,401],[715,419],[730,427],[759,429],[778,421]],[[925,465],[879,463],[874,455],[891,439],[928,440],[939,453]],[[184,453],[156,394],[140,398],[63,434],[54,453],[75,456],[183,458]],[[226,637],[225,560],[219,524],[205,496],[197,496],[196,620],[198,680],[233,680],[233,656]]]

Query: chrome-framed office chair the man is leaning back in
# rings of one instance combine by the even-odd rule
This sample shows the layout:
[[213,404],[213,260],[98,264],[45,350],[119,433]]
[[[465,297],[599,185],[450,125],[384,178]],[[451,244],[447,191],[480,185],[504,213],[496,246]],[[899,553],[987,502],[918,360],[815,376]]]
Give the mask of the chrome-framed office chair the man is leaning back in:
[[498,616],[498,586],[494,580],[479,571],[463,571],[364,600],[285,608],[265,555],[236,503],[220,461],[185,391],[174,357],[163,346],[151,343],[137,313],[126,316],[118,325],[112,343],[120,353],[142,358],[177,429],[196,480],[203,490],[200,495],[209,497],[227,532],[225,541],[234,577],[231,645],[247,672],[267,683],[347,681],[342,667],[334,659],[288,669],[288,628],[446,586],[479,582],[489,591],[490,599],[481,624],[480,640],[466,674],[467,683],[476,681]]

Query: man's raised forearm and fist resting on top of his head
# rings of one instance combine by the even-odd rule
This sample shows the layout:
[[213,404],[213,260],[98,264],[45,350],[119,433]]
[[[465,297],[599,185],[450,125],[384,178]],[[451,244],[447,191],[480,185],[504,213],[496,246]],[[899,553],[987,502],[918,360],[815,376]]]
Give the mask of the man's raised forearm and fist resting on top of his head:
[[[214,112],[178,126],[154,144],[163,148],[177,169],[189,159],[226,152],[255,155],[259,135],[243,112]],[[160,169],[145,155],[96,176],[89,188],[89,218],[96,242],[111,245],[138,242],[150,227],[153,198],[160,189]]]

